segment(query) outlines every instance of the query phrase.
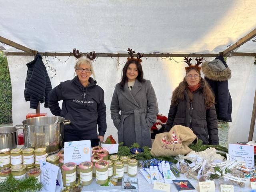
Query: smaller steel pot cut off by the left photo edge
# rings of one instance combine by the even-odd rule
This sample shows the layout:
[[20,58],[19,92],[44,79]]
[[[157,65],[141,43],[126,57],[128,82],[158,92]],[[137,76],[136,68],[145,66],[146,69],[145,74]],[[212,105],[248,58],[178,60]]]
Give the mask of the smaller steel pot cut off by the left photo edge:
[[0,149],[17,147],[18,132],[11,126],[0,127]]

